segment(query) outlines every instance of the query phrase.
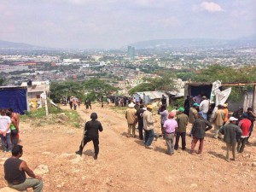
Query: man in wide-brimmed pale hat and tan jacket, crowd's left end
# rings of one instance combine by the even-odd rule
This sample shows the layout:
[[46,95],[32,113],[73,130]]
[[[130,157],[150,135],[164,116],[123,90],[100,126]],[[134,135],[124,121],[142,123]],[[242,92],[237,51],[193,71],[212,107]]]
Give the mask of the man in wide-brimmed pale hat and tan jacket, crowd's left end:
[[125,111],[125,119],[128,123],[128,132],[127,137],[131,137],[131,131],[132,131],[132,137],[136,137],[135,135],[135,125],[137,124],[137,110],[134,108],[135,104],[131,102]]

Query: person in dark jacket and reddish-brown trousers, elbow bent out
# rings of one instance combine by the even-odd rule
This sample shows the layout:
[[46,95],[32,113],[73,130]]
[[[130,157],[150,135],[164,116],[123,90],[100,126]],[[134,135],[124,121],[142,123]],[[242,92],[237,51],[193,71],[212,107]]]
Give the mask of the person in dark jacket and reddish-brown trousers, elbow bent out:
[[207,119],[203,118],[203,113],[198,113],[198,119],[195,119],[195,122],[192,126],[191,133],[193,135],[193,139],[191,142],[191,150],[190,154],[195,153],[195,145],[200,141],[198,154],[201,154],[204,144],[204,138],[206,137],[206,131],[212,129],[212,125]]

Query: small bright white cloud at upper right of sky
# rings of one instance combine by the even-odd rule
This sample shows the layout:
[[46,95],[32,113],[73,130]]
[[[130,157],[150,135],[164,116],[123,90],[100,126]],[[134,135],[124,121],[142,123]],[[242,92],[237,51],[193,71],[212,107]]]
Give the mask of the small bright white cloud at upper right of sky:
[[195,12],[207,11],[209,13],[216,13],[216,12],[224,11],[224,9],[222,9],[220,7],[220,5],[218,5],[218,3],[213,3],[213,2],[202,2],[199,5],[194,5],[193,10]]

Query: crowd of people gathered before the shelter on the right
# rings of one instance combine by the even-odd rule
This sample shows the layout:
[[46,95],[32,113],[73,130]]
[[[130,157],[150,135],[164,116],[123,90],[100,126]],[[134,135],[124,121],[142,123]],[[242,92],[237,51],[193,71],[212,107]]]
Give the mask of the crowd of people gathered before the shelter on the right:
[[[192,137],[190,154],[195,154],[195,145],[198,141],[200,144],[197,153],[201,154],[206,131],[214,126],[212,137],[224,139],[224,143],[226,143],[226,160],[230,161],[230,150],[233,154],[233,160],[236,160],[236,152],[243,152],[253,131],[256,114],[253,113],[252,108],[247,108],[247,111],[242,111],[242,113],[235,112],[229,118],[227,103],[219,104],[218,109],[213,111],[212,115],[209,115],[208,112],[211,106],[207,96],[201,96],[201,98],[195,96],[193,101],[192,107],[187,112],[187,101],[184,103],[184,108],[177,108],[171,113],[168,112],[166,104],[160,106],[158,113],[160,114],[161,134],[159,136],[154,134],[154,123],[157,120],[153,118],[153,106],[131,102],[128,105],[129,108],[125,111],[125,118],[128,123],[127,137],[136,137],[137,125],[139,139],[143,140],[145,148],[153,148],[151,144],[154,137],[163,137],[167,145],[166,154],[172,155],[174,150],[178,149],[180,137],[182,140],[181,149],[186,149],[186,132],[187,126],[190,124],[189,136]],[[239,112],[241,112],[241,108]]]

